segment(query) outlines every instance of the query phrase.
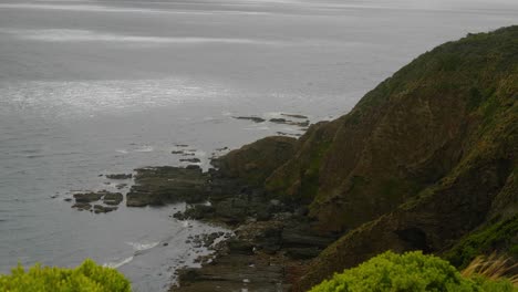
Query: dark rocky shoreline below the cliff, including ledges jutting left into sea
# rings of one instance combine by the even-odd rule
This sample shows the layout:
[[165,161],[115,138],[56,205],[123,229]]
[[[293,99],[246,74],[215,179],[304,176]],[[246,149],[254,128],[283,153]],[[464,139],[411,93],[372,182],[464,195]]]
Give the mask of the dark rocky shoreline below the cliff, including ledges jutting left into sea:
[[[294,139],[268,137],[261,149],[244,147],[248,160],[253,152],[292,153]],[[266,148],[265,148],[266,147]],[[227,149],[225,149],[227,150]],[[251,153],[250,153],[251,152]],[[186,243],[214,251],[200,257],[201,268],[184,267],[176,271],[170,291],[289,291],[293,279],[302,275],[317,257],[339,234],[321,234],[312,229],[308,208],[269,194],[262,186],[244,179],[245,173],[268,169],[265,161],[245,168],[241,157],[213,158],[218,168],[203,171],[199,165],[137,168],[133,174],[104,175],[127,182],[126,191],[108,190],[74,194],[65,200],[72,208],[94,213],[126,207],[164,206],[186,202],[184,211],[172,215],[177,220],[199,220],[224,226],[225,234],[205,234]],[[282,158],[282,157],[279,157]],[[267,161],[266,161],[267,163]],[[132,182],[126,181],[132,180]],[[72,201],[74,200],[74,201]]]

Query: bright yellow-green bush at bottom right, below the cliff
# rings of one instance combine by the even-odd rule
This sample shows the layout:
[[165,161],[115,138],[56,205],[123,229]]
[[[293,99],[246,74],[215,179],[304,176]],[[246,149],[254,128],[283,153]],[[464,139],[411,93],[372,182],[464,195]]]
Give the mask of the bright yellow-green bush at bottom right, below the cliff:
[[508,280],[488,280],[478,274],[463,277],[449,262],[421,251],[380,254],[356,268],[335,274],[311,292],[366,291],[518,291]]

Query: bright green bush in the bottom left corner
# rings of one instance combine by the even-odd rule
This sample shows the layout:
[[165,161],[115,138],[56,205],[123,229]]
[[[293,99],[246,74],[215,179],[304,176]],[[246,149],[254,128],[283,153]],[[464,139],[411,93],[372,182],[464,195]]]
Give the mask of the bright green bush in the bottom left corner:
[[9,292],[130,292],[123,274],[85,260],[75,269],[40,267],[28,271],[12,269],[12,274],[0,275],[0,291]]

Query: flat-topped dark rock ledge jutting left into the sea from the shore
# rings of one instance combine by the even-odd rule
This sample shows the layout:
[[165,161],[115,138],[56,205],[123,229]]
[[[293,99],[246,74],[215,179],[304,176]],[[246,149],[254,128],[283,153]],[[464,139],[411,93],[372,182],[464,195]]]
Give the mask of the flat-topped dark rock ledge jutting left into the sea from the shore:
[[208,175],[197,166],[136,169],[135,185],[126,195],[128,207],[200,202],[208,197]]

